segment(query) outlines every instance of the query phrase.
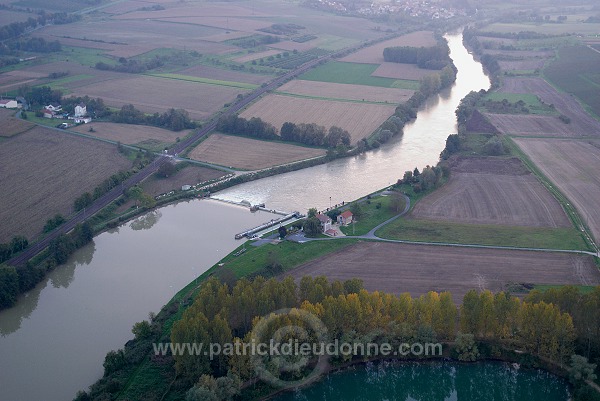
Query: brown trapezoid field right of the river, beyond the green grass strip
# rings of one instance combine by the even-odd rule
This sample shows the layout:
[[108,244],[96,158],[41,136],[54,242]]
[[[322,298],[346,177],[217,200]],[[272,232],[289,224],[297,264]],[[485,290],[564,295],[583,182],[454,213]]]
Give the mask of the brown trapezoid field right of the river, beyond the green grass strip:
[[519,159],[459,159],[448,183],[421,199],[412,214],[472,224],[571,226],[558,201]]

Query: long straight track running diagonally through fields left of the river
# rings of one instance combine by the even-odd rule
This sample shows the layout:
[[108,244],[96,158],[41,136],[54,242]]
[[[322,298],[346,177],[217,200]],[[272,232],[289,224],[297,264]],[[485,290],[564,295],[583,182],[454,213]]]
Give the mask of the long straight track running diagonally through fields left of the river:
[[[89,12],[89,9],[86,11]],[[359,48],[359,46],[355,46],[355,47],[351,48],[351,51],[354,51],[358,48]],[[154,173],[163,163],[166,163],[168,160],[170,160],[171,157],[176,157],[176,155],[178,155],[179,153],[186,150],[188,147],[190,147],[190,146],[194,145],[195,143],[197,143],[198,141],[200,141],[204,136],[208,135],[208,133],[210,133],[213,129],[215,129],[215,127],[217,126],[218,118],[220,118],[221,116],[229,116],[232,114],[236,114],[238,111],[240,111],[243,108],[245,108],[246,106],[248,106],[250,103],[252,103],[256,99],[258,99],[263,94],[265,94],[269,91],[272,91],[272,90],[276,89],[277,87],[283,85],[287,80],[292,79],[292,78],[296,77],[297,75],[300,75],[300,74],[306,72],[307,70],[309,70],[310,68],[318,65],[319,63],[327,61],[327,60],[335,57],[336,55],[341,54],[342,52],[348,51],[348,50],[349,49],[342,50],[342,51],[339,51],[336,53],[320,56],[316,59],[310,60],[310,61],[302,64],[298,68],[291,70],[291,71],[287,72],[286,74],[274,79],[273,81],[269,82],[268,84],[255,89],[249,95],[245,96],[244,98],[238,100],[236,103],[232,104],[220,116],[216,116],[216,117],[212,118],[211,120],[209,120],[204,126],[202,126],[202,128],[200,128],[198,131],[196,131],[196,133],[194,135],[185,139],[184,141],[177,143],[173,148],[171,148],[168,151],[168,153],[166,155],[159,156],[156,160],[154,160],[152,163],[150,163],[145,168],[140,170],[138,173],[136,173],[135,175],[128,178],[122,185],[119,185],[118,187],[116,187],[116,188],[112,189],[111,191],[107,192],[106,194],[104,194],[102,197],[96,199],[94,201],[94,203],[92,205],[90,205],[90,207],[77,213],[70,220],[68,220],[65,224],[58,227],[56,230],[52,231],[50,234],[48,234],[43,239],[32,244],[29,248],[27,248],[25,251],[23,251],[19,255],[10,259],[8,261],[8,264],[13,265],[13,266],[24,265],[29,259],[31,259],[35,255],[40,253],[42,250],[44,250],[46,247],[48,247],[48,245],[50,245],[50,243],[54,239],[56,239],[58,236],[68,233],[77,224],[83,223],[86,219],[93,216],[95,213],[99,212],[102,208],[108,206],[111,202],[113,202],[119,196],[121,196],[125,189],[139,184],[141,181],[143,181],[144,179],[149,177],[152,173]]]

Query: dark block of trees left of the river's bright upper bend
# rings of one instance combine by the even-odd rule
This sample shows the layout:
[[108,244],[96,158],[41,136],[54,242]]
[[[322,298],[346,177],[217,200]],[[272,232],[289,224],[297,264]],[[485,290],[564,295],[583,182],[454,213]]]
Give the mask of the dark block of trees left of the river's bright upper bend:
[[448,45],[386,47],[383,59],[392,63],[416,64],[427,70],[441,70],[452,63],[449,52]]

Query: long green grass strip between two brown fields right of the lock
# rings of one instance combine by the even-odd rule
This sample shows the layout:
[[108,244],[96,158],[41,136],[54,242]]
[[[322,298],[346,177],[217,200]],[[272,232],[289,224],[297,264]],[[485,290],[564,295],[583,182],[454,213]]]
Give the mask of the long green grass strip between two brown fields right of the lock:
[[377,230],[382,238],[407,241],[587,250],[574,228],[513,227],[400,218]]

